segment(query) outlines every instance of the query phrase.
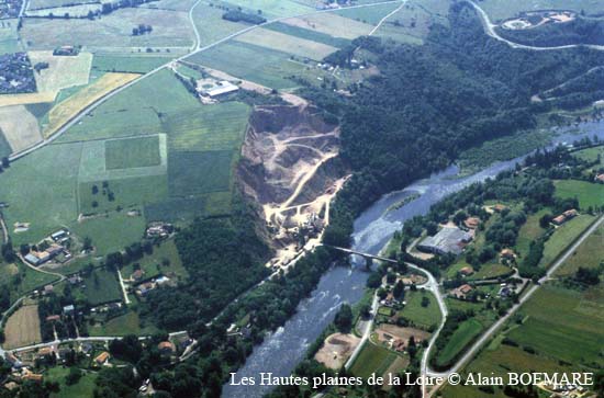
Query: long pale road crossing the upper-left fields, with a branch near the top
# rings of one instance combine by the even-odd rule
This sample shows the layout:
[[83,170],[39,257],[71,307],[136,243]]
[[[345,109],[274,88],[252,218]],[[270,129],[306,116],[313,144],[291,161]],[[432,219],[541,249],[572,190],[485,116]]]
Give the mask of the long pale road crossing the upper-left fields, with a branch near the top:
[[[201,2],[201,0],[198,0],[191,7],[191,9],[189,10],[189,21],[193,25],[193,32],[194,32],[194,35],[195,35],[195,43],[197,43],[197,44],[193,44],[193,46],[192,46],[192,48],[194,48],[193,52],[191,52],[189,54],[184,54],[184,55],[182,55],[178,58],[175,58],[175,59],[172,59],[172,60],[170,60],[170,61],[168,61],[168,62],[150,70],[150,71],[148,71],[147,73],[142,75],[139,78],[134,79],[134,80],[127,82],[126,84],[124,84],[124,86],[107,93],[105,95],[99,98],[98,100],[90,103],[88,106],[85,106],[78,114],[76,114],[72,118],[70,118],[65,125],[63,125],[63,127],[57,129],[57,132],[55,134],[53,134],[51,137],[43,139],[42,141],[37,143],[36,145],[34,145],[34,146],[32,146],[27,149],[24,149],[20,152],[12,153],[11,156],[9,156],[9,160],[10,161],[19,160],[19,159],[32,153],[33,151],[35,151],[37,149],[41,149],[41,148],[52,144],[54,140],[56,140],[58,137],[60,137],[63,134],[65,134],[65,132],[67,132],[70,127],[78,124],[88,113],[90,113],[91,111],[93,111],[94,109],[100,106],[101,104],[105,103],[108,100],[112,99],[113,96],[118,95],[122,91],[126,90],[127,88],[141,82],[144,79],[147,79],[150,76],[154,76],[155,73],[159,72],[164,68],[169,67],[172,62],[178,62],[178,61],[184,60],[184,59],[187,59],[187,58],[189,58],[189,57],[191,57],[195,54],[209,50],[209,49],[211,49],[211,48],[213,48],[217,45],[221,45],[225,42],[228,42],[230,39],[235,38],[237,36],[241,36],[241,35],[243,35],[243,34],[245,34],[249,31],[253,31],[253,30],[256,30],[256,29],[259,29],[259,27],[264,27],[264,26],[269,25],[269,24],[275,23],[275,22],[283,21],[283,20],[287,20],[287,19],[290,19],[290,18],[301,18],[301,16],[307,16],[307,15],[314,15],[314,14],[318,14],[318,13],[334,12],[335,11],[333,9],[316,10],[316,11],[309,12],[309,13],[303,13],[303,14],[300,14],[300,15],[277,18],[277,19],[267,21],[267,22],[258,24],[258,25],[248,26],[246,29],[243,29],[241,31],[232,33],[232,34],[230,34],[230,35],[227,35],[227,36],[225,36],[225,37],[223,37],[223,38],[221,38],[221,39],[219,39],[214,43],[211,43],[206,46],[201,47],[200,46],[201,45],[201,36],[200,36],[200,33],[199,33],[199,31],[198,31],[198,29],[194,24],[194,21],[193,21],[193,10],[200,2]],[[400,2],[401,2],[401,0],[389,0],[389,1],[381,1],[381,2],[377,2],[377,3],[350,5],[350,7],[347,7],[346,9],[359,9],[359,8],[376,7],[376,5],[381,5],[381,4],[400,3]]]

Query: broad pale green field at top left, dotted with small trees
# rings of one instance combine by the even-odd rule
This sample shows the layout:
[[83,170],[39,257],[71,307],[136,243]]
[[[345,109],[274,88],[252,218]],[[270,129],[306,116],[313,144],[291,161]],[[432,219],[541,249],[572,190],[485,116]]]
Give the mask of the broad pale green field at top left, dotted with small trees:
[[[153,32],[132,35],[133,26],[152,25]],[[166,49],[189,48],[193,33],[186,12],[126,8],[100,20],[27,19],[21,30],[32,49],[53,49],[79,44],[91,52],[111,49],[120,53],[145,53],[147,47]],[[74,37],[78,38],[74,43]]]

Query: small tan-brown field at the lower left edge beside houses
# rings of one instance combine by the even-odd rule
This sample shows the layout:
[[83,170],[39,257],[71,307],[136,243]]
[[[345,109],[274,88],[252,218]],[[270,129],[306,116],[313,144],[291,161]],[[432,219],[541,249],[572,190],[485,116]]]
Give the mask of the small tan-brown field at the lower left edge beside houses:
[[4,327],[4,349],[15,349],[42,342],[37,306],[23,306],[14,312]]

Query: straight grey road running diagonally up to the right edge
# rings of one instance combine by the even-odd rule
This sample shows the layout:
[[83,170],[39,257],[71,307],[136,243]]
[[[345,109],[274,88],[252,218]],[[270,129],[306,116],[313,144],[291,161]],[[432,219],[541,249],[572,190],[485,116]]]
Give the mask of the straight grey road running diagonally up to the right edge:
[[[518,300],[517,304],[515,304],[505,316],[500,318],[495,323],[493,323],[485,332],[482,334],[471,346],[470,349],[459,359],[459,361],[447,372],[434,372],[432,371],[427,364],[426,367],[422,367],[426,371],[425,375],[427,376],[439,376],[439,377],[447,377],[451,373],[458,373],[463,365],[466,365],[482,348],[482,345],[493,337],[493,334],[522,307],[524,303],[526,303],[541,285],[547,282],[549,278],[551,278],[551,275],[569,259],[569,257],[574,253],[574,251],[588,239],[595,230],[604,223],[604,215],[600,216],[600,218],[590,226],[581,237],[572,243],[560,258],[548,269],[547,273],[541,277],[537,284],[533,285]],[[440,386],[438,386],[440,387]],[[430,391],[428,396],[434,394],[437,389]],[[426,395],[424,395],[426,397]]]

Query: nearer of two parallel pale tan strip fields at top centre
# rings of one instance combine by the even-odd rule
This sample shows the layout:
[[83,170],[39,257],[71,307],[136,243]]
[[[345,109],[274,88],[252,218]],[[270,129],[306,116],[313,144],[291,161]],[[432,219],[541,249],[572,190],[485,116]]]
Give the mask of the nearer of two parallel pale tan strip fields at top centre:
[[323,43],[298,38],[262,27],[249,31],[235,39],[316,60],[337,50],[336,47]]

